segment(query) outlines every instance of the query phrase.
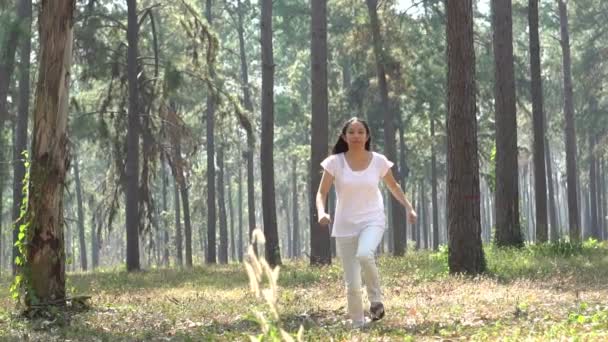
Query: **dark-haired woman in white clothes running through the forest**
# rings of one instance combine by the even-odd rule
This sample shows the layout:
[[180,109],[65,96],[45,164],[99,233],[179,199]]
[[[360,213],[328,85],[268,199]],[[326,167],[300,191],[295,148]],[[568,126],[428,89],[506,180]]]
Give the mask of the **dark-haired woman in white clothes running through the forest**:
[[384,203],[378,183],[382,179],[391,194],[407,210],[410,223],[416,222],[416,212],[395,180],[393,163],[382,154],[370,150],[371,136],[367,123],[358,118],[348,120],[332,150],[321,166],[323,176],[316,197],[321,225],[331,218],[325,210],[327,193],[332,183],[336,187],[336,213],[332,236],[344,268],[348,314],[353,327],[365,325],[361,277],[367,288],[372,320],[384,317],[382,291],[374,258],[386,229]]

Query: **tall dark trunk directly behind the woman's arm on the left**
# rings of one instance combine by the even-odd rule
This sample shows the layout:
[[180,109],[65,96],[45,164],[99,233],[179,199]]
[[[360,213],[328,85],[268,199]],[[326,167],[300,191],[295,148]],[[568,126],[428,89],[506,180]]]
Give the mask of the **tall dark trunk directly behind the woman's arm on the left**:
[[311,1],[311,196],[310,196],[310,264],[331,264],[330,229],[319,224],[315,206],[321,183],[321,162],[327,156],[329,116],[327,112],[327,1]]

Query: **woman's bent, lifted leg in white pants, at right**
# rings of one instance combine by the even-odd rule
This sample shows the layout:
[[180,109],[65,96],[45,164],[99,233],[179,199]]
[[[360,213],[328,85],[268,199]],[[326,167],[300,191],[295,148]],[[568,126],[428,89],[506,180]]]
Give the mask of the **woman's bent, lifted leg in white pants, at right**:
[[382,290],[380,289],[380,276],[376,267],[375,252],[382,241],[384,228],[379,226],[369,226],[359,234],[356,258],[361,264],[361,273],[367,297],[371,303],[382,302]]

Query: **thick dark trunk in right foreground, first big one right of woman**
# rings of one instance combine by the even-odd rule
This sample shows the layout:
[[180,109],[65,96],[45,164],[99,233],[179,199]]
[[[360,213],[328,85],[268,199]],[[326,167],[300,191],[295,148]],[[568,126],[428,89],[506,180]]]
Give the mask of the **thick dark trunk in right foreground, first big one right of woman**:
[[472,0],[447,2],[448,265],[450,273],[485,270],[479,221]]

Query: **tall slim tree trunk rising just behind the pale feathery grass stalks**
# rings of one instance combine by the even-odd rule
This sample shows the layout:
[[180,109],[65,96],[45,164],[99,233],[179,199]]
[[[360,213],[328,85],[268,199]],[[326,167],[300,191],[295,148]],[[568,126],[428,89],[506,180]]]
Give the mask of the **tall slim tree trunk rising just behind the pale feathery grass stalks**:
[[[262,215],[266,235],[266,260],[271,266],[281,264],[277,210],[274,190],[274,61],[272,52],[272,0],[262,0],[260,25],[262,40]],[[313,120],[314,121],[314,120]]]

